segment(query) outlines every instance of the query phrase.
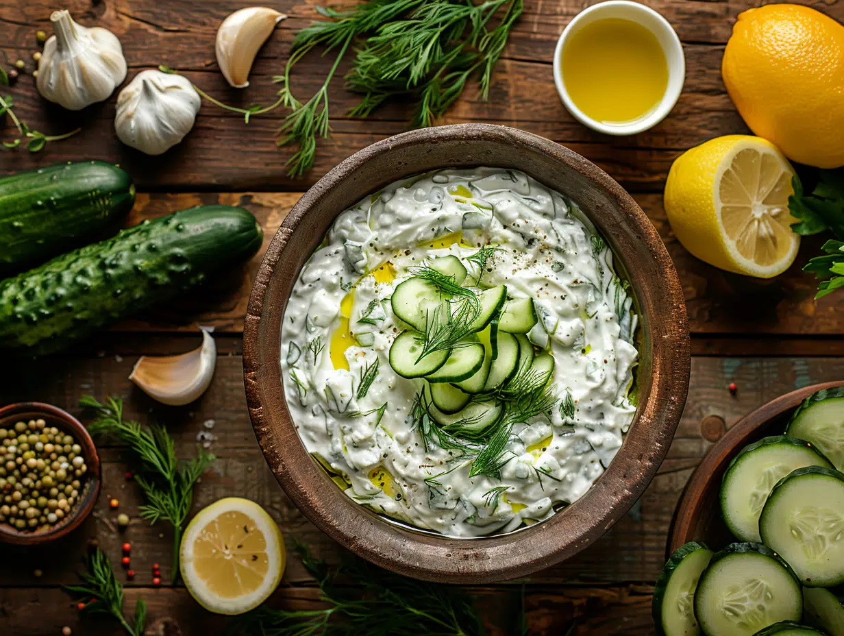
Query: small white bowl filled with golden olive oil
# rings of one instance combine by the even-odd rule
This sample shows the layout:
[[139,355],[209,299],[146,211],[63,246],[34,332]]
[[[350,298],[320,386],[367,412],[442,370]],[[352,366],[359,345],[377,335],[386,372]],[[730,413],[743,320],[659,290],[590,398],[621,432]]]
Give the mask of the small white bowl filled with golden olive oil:
[[683,87],[683,47],[652,8],[609,0],[565,28],[554,60],[565,107],[598,132],[635,134],[668,114]]

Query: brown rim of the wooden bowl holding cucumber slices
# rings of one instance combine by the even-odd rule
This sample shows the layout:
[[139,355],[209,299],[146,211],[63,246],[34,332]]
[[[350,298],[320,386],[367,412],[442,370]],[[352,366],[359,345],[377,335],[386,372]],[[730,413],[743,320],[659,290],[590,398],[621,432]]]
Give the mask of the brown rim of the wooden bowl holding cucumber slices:
[[703,493],[709,492],[712,481],[721,482],[729,462],[742,448],[751,443],[760,429],[770,426],[771,421],[781,417],[787,411],[796,409],[809,395],[823,389],[841,386],[844,386],[844,380],[810,384],[802,389],[790,391],[751,410],[733,424],[733,427],[730,427],[728,432],[704,455],[701,463],[686,482],[668,530],[667,557],[689,541],[705,541],[703,537],[695,536],[697,521],[703,513],[701,508]]

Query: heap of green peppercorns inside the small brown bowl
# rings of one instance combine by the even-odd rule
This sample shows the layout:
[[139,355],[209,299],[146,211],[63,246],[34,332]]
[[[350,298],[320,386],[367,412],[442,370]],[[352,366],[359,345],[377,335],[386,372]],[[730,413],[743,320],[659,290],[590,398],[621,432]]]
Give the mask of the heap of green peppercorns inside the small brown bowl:
[[72,514],[88,470],[73,442],[42,419],[0,428],[0,523],[38,530]]

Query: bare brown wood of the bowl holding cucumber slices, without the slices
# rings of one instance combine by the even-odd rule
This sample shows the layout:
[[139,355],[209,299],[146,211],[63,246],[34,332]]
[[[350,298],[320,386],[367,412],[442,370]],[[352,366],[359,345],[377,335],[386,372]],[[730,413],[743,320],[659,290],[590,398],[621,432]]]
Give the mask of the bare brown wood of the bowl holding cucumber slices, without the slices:
[[718,494],[730,462],[742,448],[769,435],[782,435],[794,410],[820,389],[844,386],[844,381],[813,384],[781,395],[744,416],[718,440],[698,465],[683,491],[668,530],[666,556],[689,541],[718,550],[737,541],[721,516]]

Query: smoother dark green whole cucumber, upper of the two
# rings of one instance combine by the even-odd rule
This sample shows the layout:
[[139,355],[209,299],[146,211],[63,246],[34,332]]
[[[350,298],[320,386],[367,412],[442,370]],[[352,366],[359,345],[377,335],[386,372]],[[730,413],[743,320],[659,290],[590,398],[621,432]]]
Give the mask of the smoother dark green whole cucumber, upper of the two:
[[104,161],[60,164],[0,179],[0,276],[103,236],[132,209],[135,187]]

